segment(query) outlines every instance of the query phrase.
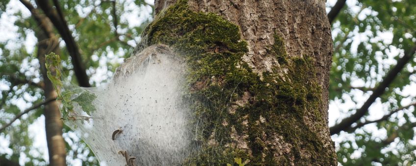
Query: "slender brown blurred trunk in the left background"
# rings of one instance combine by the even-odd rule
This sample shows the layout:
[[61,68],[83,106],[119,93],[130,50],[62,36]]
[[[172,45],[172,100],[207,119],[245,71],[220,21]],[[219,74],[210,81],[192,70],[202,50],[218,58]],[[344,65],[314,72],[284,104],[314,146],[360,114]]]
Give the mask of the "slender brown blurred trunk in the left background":
[[[49,30],[52,29],[50,24]],[[43,90],[46,99],[56,97],[56,92],[53,89],[52,83],[47,77],[47,70],[45,67],[45,55],[54,52],[56,54],[60,53],[59,42],[57,38],[54,37],[52,32],[46,35],[41,30],[35,31],[36,37],[38,38],[38,60],[43,76]],[[50,37],[48,37],[50,36]],[[53,71],[52,71],[53,72]],[[59,111],[58,102],[53,101],[45,105],[44,109],[45,115],[45,129],[46,129],[46,139],[48,143],[49,150],[49,164],[51,166],[66,166],[66,152],[65,152],[65,142],[62,137],[62,120],[61,113]]]

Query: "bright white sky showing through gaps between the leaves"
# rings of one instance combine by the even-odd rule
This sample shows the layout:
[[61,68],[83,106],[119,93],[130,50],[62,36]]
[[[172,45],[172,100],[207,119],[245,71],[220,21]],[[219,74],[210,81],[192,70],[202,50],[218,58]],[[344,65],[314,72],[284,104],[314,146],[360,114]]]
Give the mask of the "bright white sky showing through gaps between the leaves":
[[[127,0],[132,2],[132,0]],[[153,4],[153,0],[145,0],[148,4]],[[333,6],[335,4],[336,0],[328,0],[327,1],[327,12],[330,10],[330,6]],[[347,5],[349,6],[349,8],[356,12],[359,13],[359,11],[361,10],[360,6],[356,5],[356,0],[347,0]],[[128,9],[131,10],[131,12],[124,14],[123,16],[120,17],[121,21],[128,21],[130,23],[130,27],[134,27],[134,26],[139,26],[141,23],[143,23],[146,19],[148,19],[149,17],[151,17],[151,9],[149,10],[149,7],[137,7],[134,5],[129,5],[126,6]],[[83,13],[86,13],[88,10],[88,8],[77,8],[77,11],[80,15],[82,15]],[[18,0],[10,0],[9,4],[7,5],[7,10],[5,12],[0,12],[1,17],[0,17],[0,42],[8,42],[9,44],[7,44],[7,48],[8,49],[17,49],[19,47],[19,43],[23,42],[24,45],[26,46],[26,50],[30,53],[34,51],[34,47],[36,44],[36,38],[34,36],[33,31],[31,30],[27,30],[26,31],[26,40],[25,41],[16,41],[15,39],[18,36],[17,33],[17,27],[14,25],[14,22],[17,20],[16,17],[13,16],[13,13],[16,12],[22,12],[23,16],[25,17],[30,17],[30,13],[29,11],[26,9],[25,6],[23,6]],[[358,19],[362,20],[364,19],[367,15],[374,15],[377,14],[371,10],[367,10],[364,9],[358,16]],[[334,23],[333,25],[334,27],[339,26],[339,22],[337,24],[337,22]],[[336,36],[337,33],[339,33],[339,30],[335,29],[333,30],[333,37]],[[367,35],[364,33],[358,33],[358,31],[354,31],[354,37],[352,38],[352,49],[351,52],[354,53],[354,49],[356,50],[358,47],[358,44],[360,43],[360,41],[367,41],[367,40],[381,40],[384,41],[385,43],[391,43],[393,35],[391,32],[385,32],[385,33],[380,33],[377,36],[375,36],[372,39],[368,39]],[[136,40],[140,40],[139,37],[136,38]],[[134,46],[134,41],[129,42],[130,45]],[[388,54],[389,58],[388,59],[379,59],[380,62],[383,62],[385,64],[390,64],[393,65],[395,64],[395,60],[393,59],[395,56],[400,56],[403,54],[403,50],[397,49],[397,48],[390,48],[390,52]],[[0,50],[0,56],[5,56],[5,55],[1,55],[2,52]],[[117,62],[122,62],[123,59],[120,58],[121,55],[123,54],[111,54],[110,56],[108,56],[108,59],[115,59],[115,61]],[[377,56],[377,55],[376,55]],[[381,57],[381,55],[378,55],[379,57]],[[94,74],[91,76],[91,80],[98,83],[97,85],[99,85],[101,82],[108,80],[111,76],[108,76],[108,71],[107,71],[107,67],[104,66],[106,61],[108,61],[107,58],[100,58],[98,59],[97,56],[93,55],[92,59],[96,60],[96,61],[100,61],[100,64],[102,64],[101,67],[97,68],[97,69],[93,69],[94,70]],[[29,74],[33,74],[33,75],[39,75],[38,71],[35,71],[35,69],[33,67],[30,66],[34,66],[31,65],[31,63],[38,63],[37,61],[25,61],[23,62],[23,71],[28,72]],[[26,65],[25,65],[26,64]],[[26,66],[26,68],[25,68]],[[416,69],[416,68],[415,68]],[[370,73],[370,74],[375,74],[374,73]],[[380,78],[381,79],[381,76]],[[416,80],[416,78],[414,78]],[[364,81],[356,79],[352,82],[351,84],[352,86],[367,86],[367,87],[371,87],[374,86],[374,84],[368,84],[368,83],[364,83]],[[8,86],[5,83],[0,82],[0,90],[8,90]],[[405,90],[403,90],[403,92],[399,92],[402,93],[403,95],[409,95],[410,97],[407,99],[402,100],[402,104],[410,104],[410,102],[412,102],[412,98],[414,98],[416,96],[416,84],[415,82],[411,83],[410,85],[407,85],[405,87]],[[353,108],[359,108],[361,107],[361,105],[365,102],[365,100],[370,96],[370,93],[363,93],[360,90],[353,90],[351,92],[350,95],[348,94],[344,94],[342,96],[342,98],[344,99],[344,103],[341,102],[341,100],[335,100],[335,101],[331,101],[329,104],[329,125],[335,125],[336,123],[339,123],[341,119],[348,117],[350,115],[350,113],[348,112],[350,109]],[[30,95],[26,96],[26,100],[31,101],[31,100],[35,100],[35,99],[31,99]],[[356,105],[353,101],[358,102],[358,104]],[[13,103],[17,104],[19,106],[19,108],[21,110],[24,110],[28,107],[30,107],[30,104],[27,104],[25,102],[25,100],[23,99],[14,99],[12,101]],[[385,105],[383,105],[380,100],[376,100],[376,102],[374,104],[372,104],[369,108],[369,116],[368,116],[368,120],[375,120],[375,119],[379,119],[381,118],[384,114],[380,113],[380,110],[383,113],[387,113],[388,109],[386,108]],[[412,110],[408,110],[408,111],[412,111]],[[405,112],[405,111],[403,111]],[[403,117],[403,113],[397,113],[396,115],[398,118]],[[23,117],[23,119],[25,119],[25,117]],[[412,121],[416,122],[416,118],[412,118]],[[43,157],[45,158],[46,161],[48,161],[48,149],[46,146],[46,136],[45,136],[45,118],[42,115],[41,117],[39,117],[35,123],[33,123],[32,125],[29,126],[29,131],[37,131],[37,132],[31,132],[29,133],[29,135],[31,137],[34,138],[34,143],[33,143],[33,148],[34,149],[39,149],[39,150],[34,150],[33,153],[34,155],[38,154],[38,155],[43,155]],[[16,121],[15,123],[20,123],[20,120]],[[379,138],[379,139],[385,139],[386,138],[386,133],[387,131],[384,129],[378,129],[375,124],[370,124],[370,125],[365,125],[364,127],[362,127],[361,129],[358,129],[357,132],[363,132],[363,131],[372,131],[373,133],[373,137],[374,138]],[[66,135],[64,135],[65,140],[66,141],[71,141],[72,138],[75,141],[79,141],[78,136],[75,135],[72,132],[67,133]],[[336,145],[338,145],[341,141],[343,140],[351,140],[353,141],[355,139],[355,135],[354,134],[349,134],[349,133],[345,133],[345,132],[341,132],[339,135],[334,135],[332,136],[332,139],[336,142]],[[397,143],[397,140],[396,140]],[[4,136],[0,136],[0,153],[7,153],[7,154],[11,154],[12,150],[7,148],[9,145],[9,141],[8,138],[5,138]],[[416,141],[414,141],[414,144],[416,145]],[[354,146],[354,144],[353,144]],[[338,145],[339,147],[339,145]],[[394,150],[394,143],[391,145],[391,150]],[[40,151],[42,154],[39,154],[38,151]],[[21,155],[21,159],[20,159],[20,164],[24,164],[24,161],[26,160],[25,154],[20,154]],[[357,150],[356,152],[353,153],[353,156],[355,157],[360,157],[361,153],[360,150]],[[70,161],[71,165],[73,166],[80,166],[81,165],[81,160],[72,160]]]

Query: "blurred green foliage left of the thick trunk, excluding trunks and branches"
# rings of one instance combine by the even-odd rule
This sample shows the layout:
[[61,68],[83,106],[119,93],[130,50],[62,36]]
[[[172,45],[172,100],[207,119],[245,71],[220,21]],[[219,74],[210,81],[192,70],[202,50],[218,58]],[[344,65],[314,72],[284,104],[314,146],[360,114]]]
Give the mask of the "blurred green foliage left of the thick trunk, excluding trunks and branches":
[[[152,5],[145,3],[144,0],[117,0],[115,5],[112,1],[106,0],[59,0],[58,2],[72,36],[78,44],[87,75],[91,78],[90,83],[93,86],[108,80],[118,64],[130,56],[136,43],[140,41],[139,36],[143,27],[151,20],[152,15]],[[37,7],[35,1],[30,3]],[[114,10],[116,17],[113,15]],[[39,11],[41,12],[40,9]],[[116,25],[114,18],[117,18]],[[131,21],[132,18],[136,20]],[[36,42],[42,41],[37,41],[34,36],[35,30],[40,27],[26,7],[18,0],[2,0],[0,22],[0,125],[4,125],[32,103],[40,103],[45,99],[42,87],[43,78],[46,76],[40,73],[37,55]],[[60,38],[56,30],[54,33]],[[61,66],[58,73],[60,76],[55,75],[56,73],[51,74],[56,79],[61,79],[63,84],[58,80],[52,82],[57,86],[69,88],[65,83],[75,83],[73,66],[64,42],[60,43],[60,50],[61,60],[56,60],[53,64]],[[79,95],[74,95],[74,92]],[[94,97],[84,89],[72,89],[72,92],[68,91],[68,94],[63,93],[61,96],[67,99],[72,96],[72,101],[77,102],[86,113],[94,110],[89,105]],[[39,136],[35,138],[29,131],[30,127],[33,129],[36,125],[43,129],[38,125],[44,121],[42,114],[43,107],[32,110],[21,120],[1,131],[1,140],[7,141],[5,146],[0,147],[4,149],[0,150],[0,158],[17,163],[23,159],[24,164],[28,166],[48,164],[45,161],[48,151],[45,151],[44,146],[38,145],[39,142],[46,144],[46,140],[37,140]],[[39,135],[42,135],[42,132]],[[68,164],[74,165],[82,161],[82,165],[85,166],[97,165],[91,150],[74,136],[75,134],[65,127]]]

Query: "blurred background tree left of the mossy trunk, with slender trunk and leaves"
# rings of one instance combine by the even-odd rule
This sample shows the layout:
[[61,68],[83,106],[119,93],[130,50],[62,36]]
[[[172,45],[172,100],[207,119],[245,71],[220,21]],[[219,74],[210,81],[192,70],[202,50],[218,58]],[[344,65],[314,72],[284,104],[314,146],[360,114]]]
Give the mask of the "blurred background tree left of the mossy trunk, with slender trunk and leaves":
[[[59,120],[57,105],[52,101],[55,95],[45,74],[43,56],[51,51],[60,52],[64,60],[63,71],[69,76],[70,82],[77,81],[84,87],[101,83],[112,75],[115,67],[122,61],[121,58],[130,55],[136,41],[139,40],[137,37],[142,29],[140,25],[150,19],[145,16],[151,15],[151,6],[143,0],[85,3],[12,0],[0,3],[1,18],[13,21],[19,27],[16,38],[6,37],[1,42],[1,114],[4,117],[1,119],[4,124],[1,130],[3,136],[10,141],[7,146],[12,150],[2,152],[1,158],[17,163],[19,156],[26,154],[26,157],[20,158],[21,164],[45,165],[42,156],[42,152],[45,151],[28,148],[32,145],[33,136],[29,136],[30,132],[27,130],[27,125],[36,119],[45,119],[51,165],[66,164],[65,148],[70,149],[66,157],[69,159],[68,164],[79,161],[83,161],[85,165],[96,163],[90,150],[79,138],[74,137],[68,127],[64,127],[66,146],[63,139],[56,139],[62,135],[62,122]],[[140,10],[144,11],[142,18],[131,16],[132,12]],[[128,17],[137,20],[128,23]],[[26,49],[24,44],[27,43],[23,41],[33,37],[37,38],[38,43]],[[60,49],[66,51],[61,52]],[[88,66],[89,69],[86,70],[84,66]],[[91,81],[90,76],[93,77]],[[42,100],[45,101],[41,102]],[[33,103],[32,107],[30,103]],[[43,106],[44,104],[47,105]],[[29,108],[17,115],[19,109],[25,107]],[[31,110],[35,111],[30,112]],[[26,113],[29,116],[25,115]],[[45,118],[41,116],[42,113]],[[16,117],[11,120],[13,114],[16,114]],[[20,117],[24,121],[18,120],[14,125],[4,128]]]

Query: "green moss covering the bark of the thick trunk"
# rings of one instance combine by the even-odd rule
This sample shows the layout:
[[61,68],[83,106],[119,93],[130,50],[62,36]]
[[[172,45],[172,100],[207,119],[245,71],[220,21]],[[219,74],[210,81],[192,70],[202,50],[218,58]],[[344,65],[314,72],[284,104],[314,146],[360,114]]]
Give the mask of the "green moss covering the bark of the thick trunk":
[[325,129],[321,86],[309,56],[290,58],[276,35],[268,54],[280,65],[260,79],[242,61],[248,49],[238,26],[213,13],[191,11],[185,0],[163,11],[144,35],[147,45],[173,47],[189,67],[185,98],[194,101],[193,123],[202,144],[186,164],[232,164],[236,157],[250,165],[333,164],[330,150],[304,121],[308,116]]

